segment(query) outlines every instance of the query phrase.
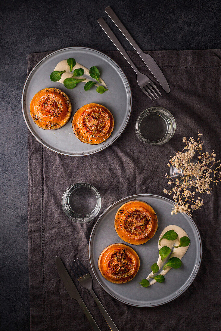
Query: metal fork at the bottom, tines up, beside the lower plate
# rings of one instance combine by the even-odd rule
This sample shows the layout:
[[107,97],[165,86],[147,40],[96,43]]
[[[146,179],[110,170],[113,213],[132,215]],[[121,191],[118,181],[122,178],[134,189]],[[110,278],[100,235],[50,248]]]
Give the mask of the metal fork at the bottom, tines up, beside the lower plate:
[[92,285],[93,285],[92,278],[90,277],[89,272],[84,267],[82,262],[77,259],[77,261],[74,260],[74,262],[72,261],[71,263],[69,263],[69,265],[70,265],[71,270],[73,271],[75,277],[78,279],[79,283],[84,288],[86,288],[87,290],[90,291],[92,297],[94,298],[94,301],[96,302],[96,304],[97,304],[98,308],[100,309],[102,315],[104,316],[107,324],[109,325],[109,328],[112,331],[119,331],[118,328],[116,327],[116,325],[114,324],[114,322],[112,321],[111,317],[108,315],[106,309],[103,307],[102,303],[99,301],[96,294],[94,293],[94,291],[92,289]]

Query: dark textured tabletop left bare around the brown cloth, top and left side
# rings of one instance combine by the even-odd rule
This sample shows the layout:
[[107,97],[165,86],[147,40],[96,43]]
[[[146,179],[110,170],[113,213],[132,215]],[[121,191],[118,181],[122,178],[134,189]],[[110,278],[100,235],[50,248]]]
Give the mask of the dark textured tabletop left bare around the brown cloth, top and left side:
[[[1,1],[1,329],[29,329],[27,127],[21,111],[28,53],[115,50],[96,20],[111,5],[143,50],[221,48],[220,1]],[[132,47],[117,31],[127,50]],[[205,312],[208,313],[208,312]]]

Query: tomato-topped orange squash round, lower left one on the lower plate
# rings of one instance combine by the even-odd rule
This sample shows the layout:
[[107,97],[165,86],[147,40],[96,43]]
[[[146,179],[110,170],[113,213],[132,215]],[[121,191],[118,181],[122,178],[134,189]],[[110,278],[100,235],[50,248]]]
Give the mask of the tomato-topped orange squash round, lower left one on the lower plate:
[[106,247],[98,259],[101,275],[116,284],[132,280],[137,274],[139,266],[140,261],[135,250],[120,243]]

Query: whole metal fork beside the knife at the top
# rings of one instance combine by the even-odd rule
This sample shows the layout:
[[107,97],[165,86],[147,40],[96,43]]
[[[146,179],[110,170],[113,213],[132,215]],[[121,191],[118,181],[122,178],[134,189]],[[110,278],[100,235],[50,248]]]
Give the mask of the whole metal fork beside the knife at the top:
[[146,75],[144,75],[143,73],[141,73],[141,72],[138,71],[138,69],[135,66],[134,62],[131,60],[131,58],[129,57],[129,55],[127,54],[127,52],[125,51],[125,49],[123,48],[123,46],[121,45],[121,43],[119,42],[119,40],[117,39],[117,37],[115,36],[115,34],[113,33],[113,31],[111,30],[111,28],[109,27],[109,25],[104,21],[103,18],[98,19],[97,22],[100,24],[100,26],[102,27],[102,29],[104,30],[104,32],[108,35],[108,37],[113,42],[113,44],[121,52],[121,54],[123,55],[123,57],[125,58],[125,60],[127,60],[127,62],[129,63],[129,65],[136,72],[136,74],[137,74],[137,82],[138,82],[138,85],[141,88],[141,90],[148,96],[148,98],[151,101],[153,101],[152,98],[154,98],[155,100],[156,100],[156,97],[159,98],[159,96],[157,95],[156,91],[161,96],[160,91],[157,89],[157,87],[151,81],[151,79],[149,77],[147,77]]

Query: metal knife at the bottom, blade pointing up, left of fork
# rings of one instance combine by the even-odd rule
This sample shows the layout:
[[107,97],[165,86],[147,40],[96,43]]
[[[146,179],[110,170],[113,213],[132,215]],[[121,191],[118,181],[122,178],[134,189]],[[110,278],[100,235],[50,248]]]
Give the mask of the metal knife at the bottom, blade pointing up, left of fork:
[[100,328],[98,327],[97,323],[93,319],[91,313],[85,306],[75,284],[73,283],[73,280],[69,276],[69,273],[68,273],[67,269],[65,268],[64,264],[62,263],[62,260],[59,258],[59,256],[56,256],[55,262],[56,262],[56,265],[58,268],[58,273],[64,283],[64,286],[65,286],[68,294],[70,295],[71,298],[77,300],[77,302],[79,303],[80,307],[83,310],[84,315],[86,316],[90,325],[92,326],[93,330],[101,331]]

